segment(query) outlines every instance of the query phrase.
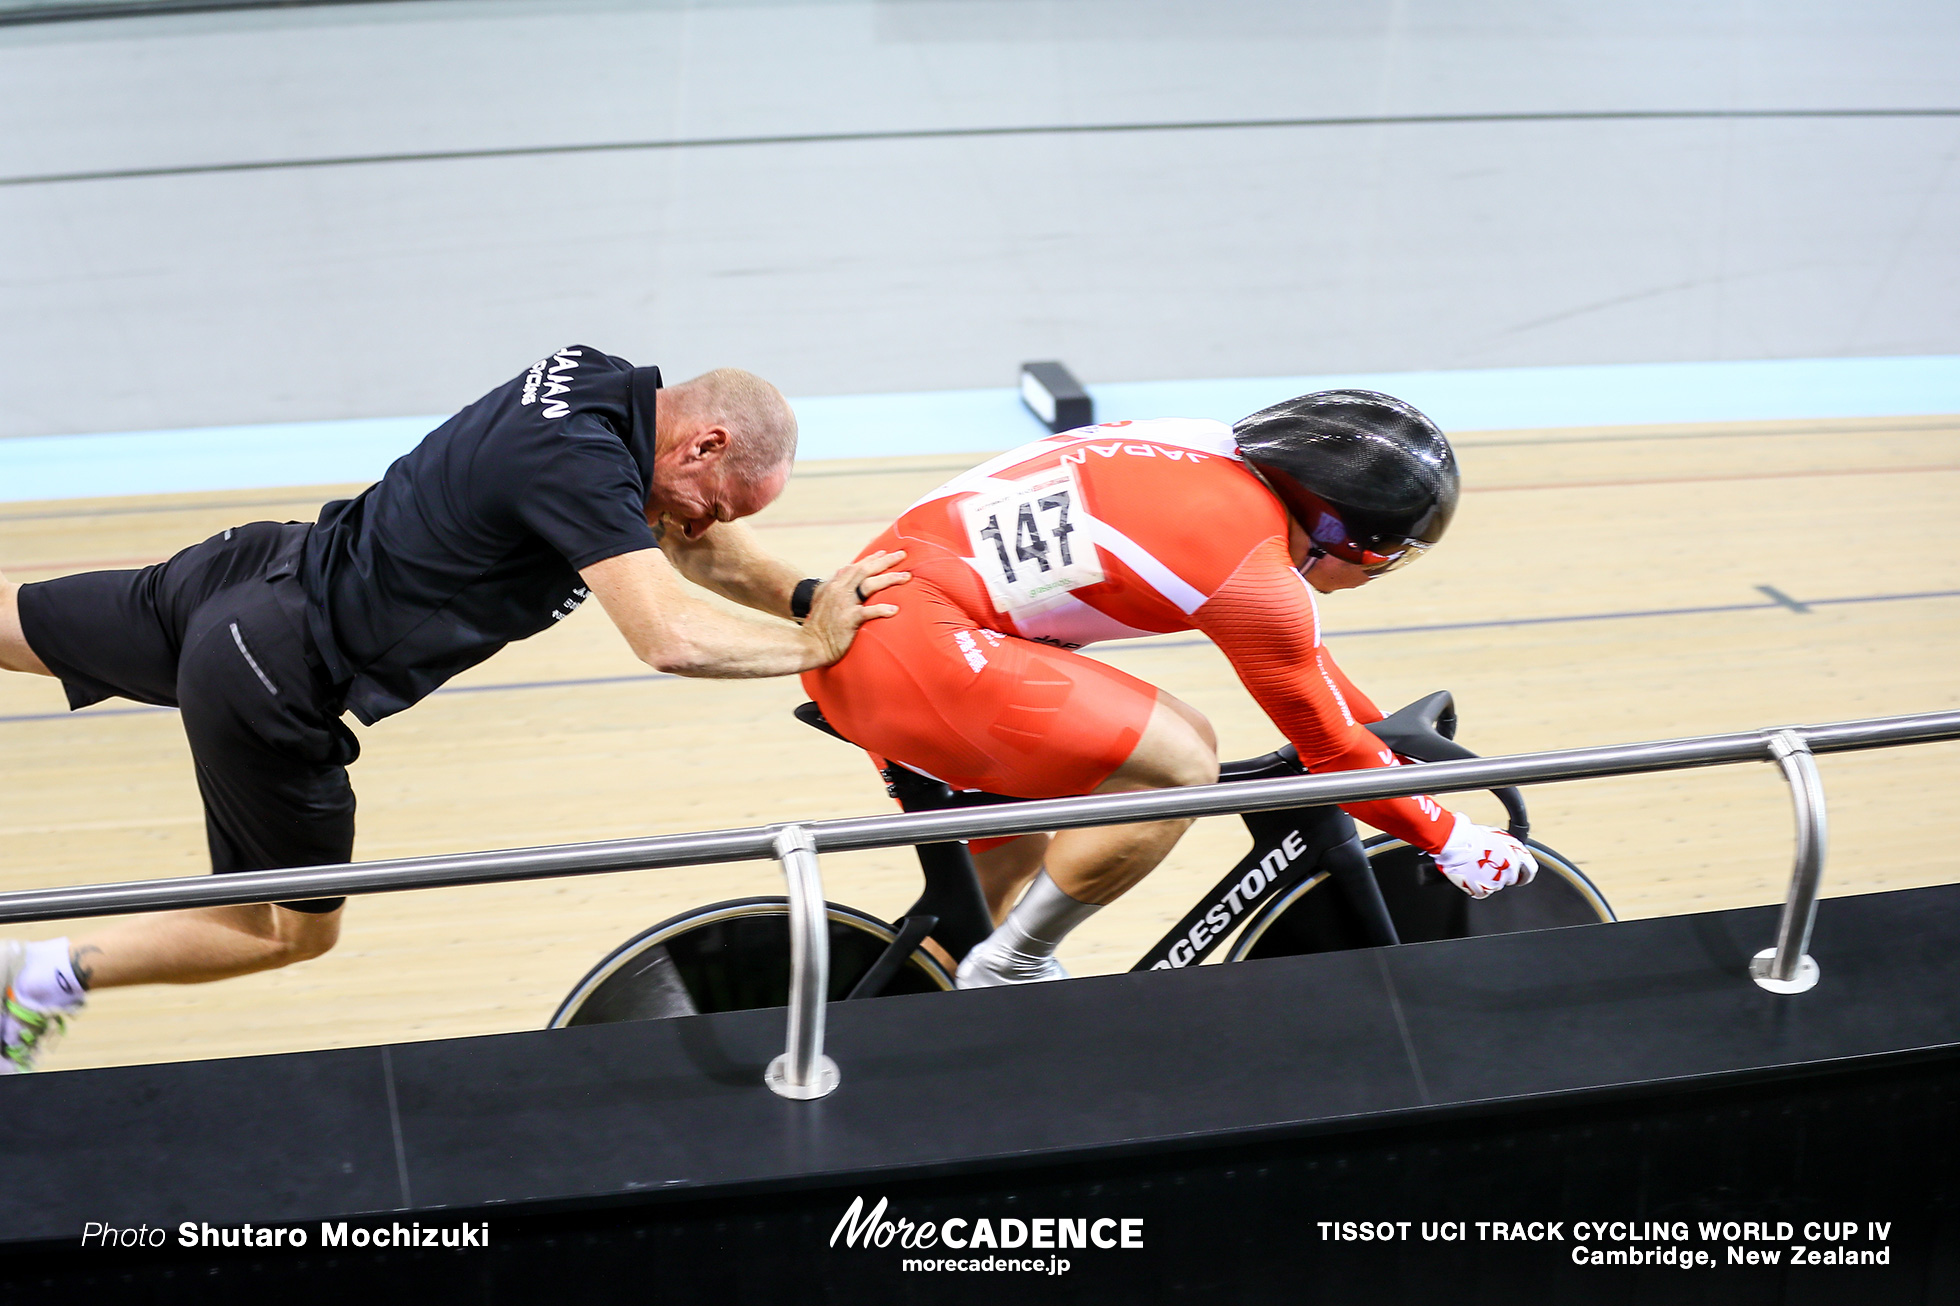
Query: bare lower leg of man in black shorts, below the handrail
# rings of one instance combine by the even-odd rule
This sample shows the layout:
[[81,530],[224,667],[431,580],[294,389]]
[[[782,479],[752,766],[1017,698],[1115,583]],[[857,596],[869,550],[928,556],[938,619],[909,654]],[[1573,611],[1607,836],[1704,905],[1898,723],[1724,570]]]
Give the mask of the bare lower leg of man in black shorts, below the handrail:
[[73,941],[84,988],[206,984],[276,971],[325,953],[341,937],[341,912],[253,906],[157,912]]

